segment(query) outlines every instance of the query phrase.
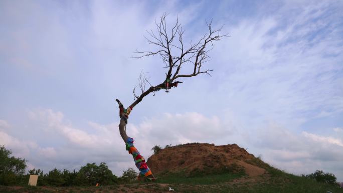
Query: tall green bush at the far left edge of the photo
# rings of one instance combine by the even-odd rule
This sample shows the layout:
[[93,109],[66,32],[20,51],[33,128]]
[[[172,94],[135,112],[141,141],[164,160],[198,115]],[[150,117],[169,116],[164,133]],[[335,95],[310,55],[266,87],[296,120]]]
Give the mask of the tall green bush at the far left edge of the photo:
[[0,185],[15,184],[25,173],[26,160],[11,156],[12,151],[0,145]]

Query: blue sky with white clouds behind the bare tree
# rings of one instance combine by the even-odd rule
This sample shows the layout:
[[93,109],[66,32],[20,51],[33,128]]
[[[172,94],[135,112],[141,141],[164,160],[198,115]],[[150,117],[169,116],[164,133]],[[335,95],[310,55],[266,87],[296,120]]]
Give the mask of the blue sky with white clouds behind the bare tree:
[[185,42],[224,25],[207,75],[143,99],[127,127],[145,157],[155,144],[236,143],[288,172],[343,181],[341,1],[1,1],[0,143],[30,168],[134,167],[117,106],[141,71],[164,78],[143,38],[179,17]]

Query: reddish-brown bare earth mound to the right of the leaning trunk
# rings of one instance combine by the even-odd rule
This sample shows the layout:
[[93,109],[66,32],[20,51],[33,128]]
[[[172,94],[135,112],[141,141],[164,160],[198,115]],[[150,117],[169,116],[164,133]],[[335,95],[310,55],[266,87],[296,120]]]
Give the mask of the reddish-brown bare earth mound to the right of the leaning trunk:
[[249,176],[263,174],[263,167],[267,165],[236,144],[215,146],[208,143],[191,143],[161,149],[148,158],[147,164],[156,175],[244,171]]

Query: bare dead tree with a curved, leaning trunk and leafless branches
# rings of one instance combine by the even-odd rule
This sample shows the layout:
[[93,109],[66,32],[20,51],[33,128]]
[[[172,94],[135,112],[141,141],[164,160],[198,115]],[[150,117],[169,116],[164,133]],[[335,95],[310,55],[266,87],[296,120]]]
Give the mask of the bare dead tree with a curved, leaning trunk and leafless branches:
[[[150,84],[148,79],[144,77],[144,73],[141,73],[138,79],[137,86],[133,89],[133,95],[135,99],[134,102],[131,105],[129,105],[127,109],[125,109],[123,105],[120,103],[120,101],[116,99],[120,108],[120,135],[126,143],[126,145],[129,146],[130,144],[128,143],[130,142],[128,141],[130,141],[132,138],[127,136],[125,124],[127,123],[128,115],[130,114],[130,111],[133,109],[133,107],[136,106],[139,102],[141,102],[142,99],[150,93],[155,93],[161,89],[165,89],[165,92],[169,92],[169,89],[177,87],[179,83],[183,83],[179,81],[179,79],[181,78],[190,78],[198,76],[200,74],[210,75],[210,72],[212,70],[203,69],[204,64],[208,62],[209,59],[208,53],[212,50],[214,43],[216,41],[220,41],[223,37],[227,36],[226,34],[221,35],[221,30],[223,27],[217,30],[213,30],[211,20],[211,22],[209,23],[206,22],[208,32],[204,36],[202,36],[200,40],[198,40],[195,43],[191,42],[187,46],[186,43],[183,41],[183,35],[185,31],[179,23],[179,20],[177,19],[176,24],[171,28],[171,30],[168,30],[166,25],[166,17],[167,14],[163,14],[159,22],[155,21],[155,31],[146,31],[149,36],[144,36],[144,38],[147,40],[147,43],[155,46],[156,50],[136,50],[134,52],[135,56],[133,57],[140,59],[143,57],[155,55],[160,56],[166,69],[165,80],[162,80],[161,83],[153,86]],[[185,65],[191,65],[192,71],[183,72],[182,67],[184,67]],[[137,87],[140,88],[141,93],[139,95],[136,94]],[[136,160],[135,156],[134,160]]]

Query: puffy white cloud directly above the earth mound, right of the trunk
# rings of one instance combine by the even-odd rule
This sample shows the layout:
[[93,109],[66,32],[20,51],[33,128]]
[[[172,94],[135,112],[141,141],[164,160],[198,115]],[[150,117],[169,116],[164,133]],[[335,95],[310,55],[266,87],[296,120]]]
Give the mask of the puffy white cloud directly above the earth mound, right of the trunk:
[[208,118],[196,112],[164,113],[158,117],[146,118],[139,124],[138,130],[139,134],[144,133],[153,141],[170,141],[173,143],[210,142],[216,140],[218,136],[231,134],[230,128],[223,128],[218,117]]

